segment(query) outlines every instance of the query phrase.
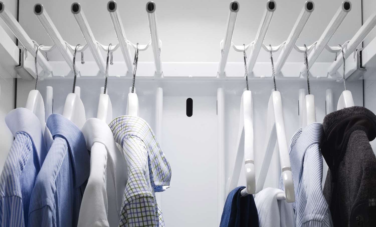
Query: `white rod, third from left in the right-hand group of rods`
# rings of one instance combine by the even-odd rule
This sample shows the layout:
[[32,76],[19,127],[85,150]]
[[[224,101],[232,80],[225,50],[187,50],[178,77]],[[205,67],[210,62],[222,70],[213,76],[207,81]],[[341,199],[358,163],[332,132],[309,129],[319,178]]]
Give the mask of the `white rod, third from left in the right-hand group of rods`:
[[293,50],[296,41],[298,40],[300,33],[302,33],[304,26],[306,25],[309,16],[311,16],[311,13],[315,9],[315,4],[312,1],[307,1],[304,4],[304,7],[302,11],[300,11],[299,17],[296,20],[293,29],[290,32],[290,35],[288,36],[286,40],[286,44],[284,48],[282,49],[276,63],[275,67],[275,74],[278,75],[282,67],[284,66],[288,55],[290,55],[291,50]]

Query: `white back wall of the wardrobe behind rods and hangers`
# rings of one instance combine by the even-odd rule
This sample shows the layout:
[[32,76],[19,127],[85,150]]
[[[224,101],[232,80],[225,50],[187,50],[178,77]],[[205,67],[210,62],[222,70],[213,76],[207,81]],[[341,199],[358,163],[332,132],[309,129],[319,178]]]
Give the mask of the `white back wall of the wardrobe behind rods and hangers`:
[[[118,1],[121,9],[127,38],[133,43],[146,44],[149,39],[149,28],[145,12],[147,1]],[[304,2],[302,0],[276,1],[277,9],[265,38],[265,44],[276,46],[285,41],[293,27]],[[306,24],[298,45],[311,44],[316,41],[342,0],[315,0],[315,11]],[[75,45],[85,43],[82,34],[71,15],[72,2],[47,0],[21,0],[20,23],[39,44],[52,45],[52,41],[43,30],[33,14],[33,5],[42,3],[55,23],[60,34],[68,43]],[[106,0],[83,0],[79,2],[85,11],[86,18],[96,39],[102,44],[116,44],[115,32],[106,11]],[[156,17],[160,39],[162,40],[162,61],[173,62],[218,62],[220,59],[219,42],[225,33],[226,20],[229,13],[227,0],[220,1],[156,1]],[[265,9],[264,0],[239,1],[240,12],[235,28],[233,42],[241,45],[254,40],[262,13]],[[352,1],[352,11],[347,15],[330,45],[343,44],[352,38],[361,26],[361,1]],[[133,51],[132,51],[133,53]],[[248,53],[249,54],[249,53]],[[273,54],[276,61],[279,52]],[[103,52],[105,56],[105,52]],[[242,54],[230,51],[229,62],[240,62]],[[57,50],[49,53],[51,61],[63,61]],[[323,51],[318,62],[332,62],[334,54]],[[79,57],[78,59],[79,60]],[[139,53],[140,61],[153,61],[151,49]],[[93,61],[91,53],[85,51],[85,61]],[[120,50],[114,52],[114,61],[123,61]],[[288,62],[302,62],[302,53],[291,52]],[[270,62],[268,52],[261,50],[258,62]],[[79,61],[77,61],[79,64]],[[87,63],[89,64],[89,63]],[[116,67],[116,62],[114,66]],[[243,66],[241,69],[243,69]],[[142,70],[142,69],[139,69]],[[270,70],[270,68],[268,68]],[[341,70],[341,68],[340,68]],[[242,71],[240,71],[242,72]],[[85,76],[85,72],[81,72]],[[241,74],[242,75],[242,74]],[[241,76],[240,75],[240,76]],[[102,75],[103,76],[103,75]],[[326,75],[323,75],[326,76]],[[125,114],[128,88],[132,81],[127,78],[110,77],[108,94],[112,100],[113,116]],[[38,83],[38,89],[45,95],[45,87],[52,86],[54,91],[54,113],[62,113],[65,98],[71,92],[72,77],[45,79]],[[265,126],[267,103],[273,88],[272,79],[250,79],[250,90],[253,94],[255,122],[255,165],[256,172],[264,154]],[[35,81],[18,80],[17,106],[23,107],[27,94]],[[77,86],[81,87],[81,98],[86,110],[86,118],[95,117],[100,87],[104,78],[77,78]],[[355,104],[363,104],[362,81],[347,82],[352,91]],[[155,120],[155,91],[163,88],[163,120],[162,149],[171,163],[171,188],[161,193],[160,205],[164,212],[167,226],[218,226],[220,212],[218,206],[218,122],[216,115],[217,89],[224,89],[224,148],[225,178],[230,177],[236,155],[236,140],[239,123],[240,97],[245,88],[245,80],[213,80],[213,79],[136,79],[136,93],[139,96],[140,116],[150,123],[153,129]],[[306,88],[303,79],[277,78],[277,89],[281,92],[284,104],[284,117],[287,140],[299,128],[298,90]],[[343,91],[343,84],[324,79],[311,78],[311,93],[315,95],[317,121],[322,122],[325,115],[325,90],[332,88],[334,101]],[[185,115],[185,102],[193,99],[193,116]],[[274,155],[265,187],[276,187],[279,176],[279,163]],[[240,174],[239,185],[244,185],[244,169]],[[220,207],[221,209],[221,207]],[[219,209],[219,210],[220,210]]]

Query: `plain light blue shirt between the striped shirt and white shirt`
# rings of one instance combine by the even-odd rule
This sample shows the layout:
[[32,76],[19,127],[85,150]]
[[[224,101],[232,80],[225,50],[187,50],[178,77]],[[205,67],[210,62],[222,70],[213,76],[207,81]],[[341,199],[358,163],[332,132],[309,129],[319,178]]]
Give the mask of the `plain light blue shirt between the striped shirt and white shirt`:
[[85,138],[60,114],[50,115],[47,127],[54,141],[32,191],[28,226],[77,226],[90,171]]

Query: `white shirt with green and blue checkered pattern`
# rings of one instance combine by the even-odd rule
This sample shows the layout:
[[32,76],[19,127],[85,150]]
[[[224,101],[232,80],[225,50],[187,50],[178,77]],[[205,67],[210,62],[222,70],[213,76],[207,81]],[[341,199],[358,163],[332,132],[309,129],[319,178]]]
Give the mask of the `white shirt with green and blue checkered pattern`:
[[128,179],[119,226],[164,227],[155,192],[170,186],[171,167],[155,134],[140,117],[117,117],[109,126],[127,161]]

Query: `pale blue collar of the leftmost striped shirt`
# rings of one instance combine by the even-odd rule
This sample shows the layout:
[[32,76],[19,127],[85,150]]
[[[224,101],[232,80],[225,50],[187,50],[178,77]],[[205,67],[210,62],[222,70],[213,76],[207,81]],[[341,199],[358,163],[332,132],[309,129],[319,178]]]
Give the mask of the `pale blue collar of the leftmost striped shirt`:
[[44,143],[41,123],[38,117],[26,108],[17,108],[5,116],[5,123],[13,136],[17,132],[24,132],[30,136],[38,155],[39,165],[42,166],[44,158],[47,155],[47,148]]

